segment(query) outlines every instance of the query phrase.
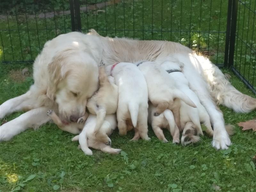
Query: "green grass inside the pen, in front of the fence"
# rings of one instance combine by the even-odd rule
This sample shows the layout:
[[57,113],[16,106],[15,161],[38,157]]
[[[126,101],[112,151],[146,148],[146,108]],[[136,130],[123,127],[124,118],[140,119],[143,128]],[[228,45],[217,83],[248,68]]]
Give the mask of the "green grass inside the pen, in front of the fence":
[[[10,71],[19,71],[28,64],[0,64],[0,103],[26,92],[31,77],[14,81]],[[228,71],[225,71],[228,72]],[[13,74],[13,72],[12,72]],[[232,73],[231,82],[243,93],[251,91]],[[28,130],[11,141],[0,143],[0,191],[255,191],[256,171],[252,156],[256,154],[256,132],[241,131],[236,123],[256,116],[256,111],[239,114],[221,107],[226,123],[236,126],[228,150],[216,151],[211,138],[202,137],[195,145],[183,147],[162,143],[149,128],[150,141],[129,142],[133,132],[112,136],[119,155],[93,150],[85,156],[71,142],[72,134],[62,132],[54,124],[39,130]],[[14,113],[5,118],[19,116]],[[1,123],[1,121],[0,121]],[[31,179],[31,180],[28,180]],[[26,181],[28,180],[28,181]],[[177,187],[176,187],[177,186]]]

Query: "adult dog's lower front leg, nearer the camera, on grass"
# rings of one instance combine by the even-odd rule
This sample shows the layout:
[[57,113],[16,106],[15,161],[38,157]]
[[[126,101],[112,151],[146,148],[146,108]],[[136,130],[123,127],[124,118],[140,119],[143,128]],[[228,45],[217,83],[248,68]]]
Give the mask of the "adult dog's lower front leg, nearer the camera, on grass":
[[46,115],[48,108],[40,107],[23,113],[19,117],[0,126],[0,141],[12,139],[15,135],[28,128],[37,128],[48,122],[50,117]]

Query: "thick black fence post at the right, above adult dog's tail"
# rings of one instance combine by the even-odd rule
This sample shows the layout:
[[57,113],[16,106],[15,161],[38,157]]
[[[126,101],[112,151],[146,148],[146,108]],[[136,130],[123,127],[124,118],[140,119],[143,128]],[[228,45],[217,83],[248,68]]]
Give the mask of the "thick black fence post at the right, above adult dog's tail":
[[237,5],[238,0],[228,0],[228,16],[224,58],[224,67],[226,68],[230,68],[234,63]]

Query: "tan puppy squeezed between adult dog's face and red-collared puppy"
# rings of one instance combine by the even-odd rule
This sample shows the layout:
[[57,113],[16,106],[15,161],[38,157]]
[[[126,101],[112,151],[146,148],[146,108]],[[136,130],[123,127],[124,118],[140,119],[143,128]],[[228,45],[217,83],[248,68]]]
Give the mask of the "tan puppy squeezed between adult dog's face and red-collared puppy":
[[[97,115],[94,128],[95,137],[103,143],[111,142],[105,133],[100,132],[105,116],[116,113],[118,102],[118,87],[112,76],[107,76],[103,66],[99,67],[99,90],[87,101],[87,109]],[[105,137],[104,137],[105,136]],[[104,139],[105,138],[105,139]]]

